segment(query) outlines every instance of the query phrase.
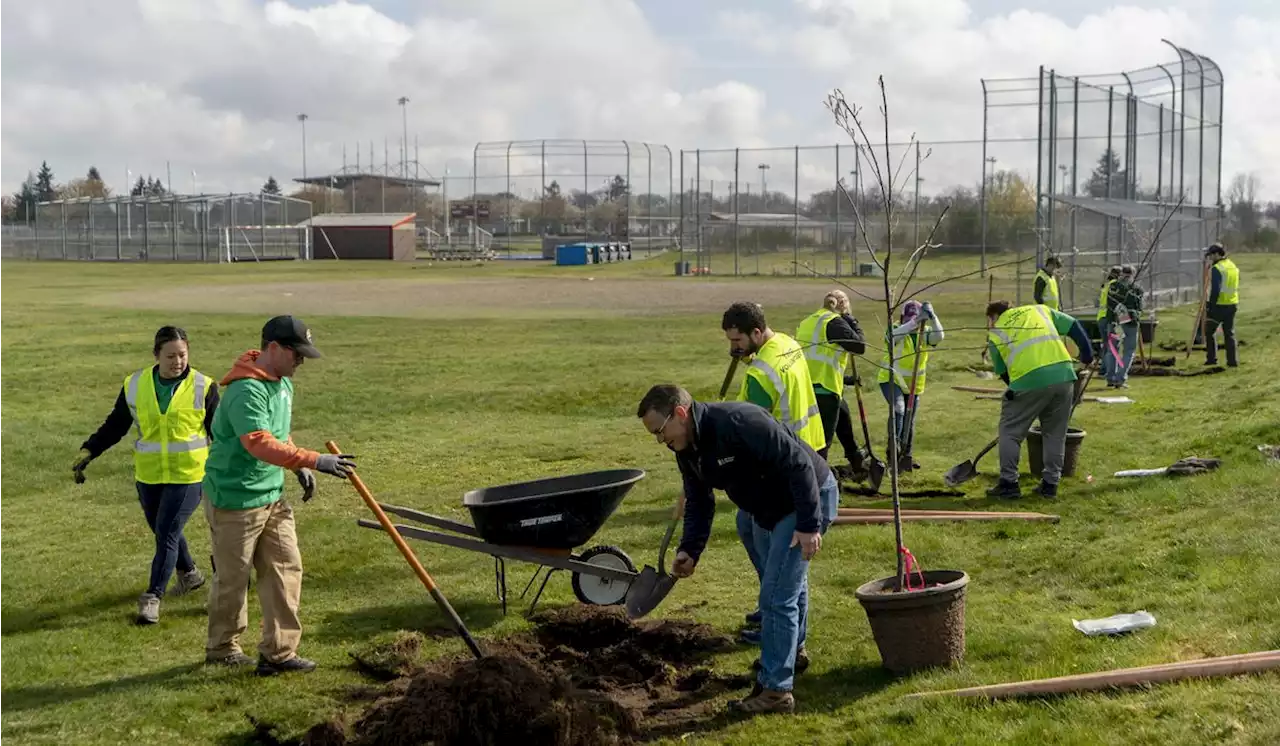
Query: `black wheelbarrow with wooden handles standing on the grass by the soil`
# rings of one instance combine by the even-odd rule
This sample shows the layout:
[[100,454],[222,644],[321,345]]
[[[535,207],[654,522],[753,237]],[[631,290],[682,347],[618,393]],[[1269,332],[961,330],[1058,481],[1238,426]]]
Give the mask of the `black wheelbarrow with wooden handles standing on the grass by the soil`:
[[[635,563],[617,546],[577,549],[591,540],[644,476],[645,472],[639,468],[616,468],[471,490],[462,496],[462,504],[471,512],[471,523],[412,508],[379,505],[387,513],[449,531],[443,534],[397,523],[396,528],[407,539],[493,557],[494,585],[503,614],[507,613],[507,559],[538,566],[521,598],[532,587],[539,573],[547,571],[529,607],[530,613],[538,607],[538,599],[557,569],[572,573],[577,600],[609,607],[626,600],[631,582],[640,575]],[[357,523],[383,530],[376,521],[362,518]]]

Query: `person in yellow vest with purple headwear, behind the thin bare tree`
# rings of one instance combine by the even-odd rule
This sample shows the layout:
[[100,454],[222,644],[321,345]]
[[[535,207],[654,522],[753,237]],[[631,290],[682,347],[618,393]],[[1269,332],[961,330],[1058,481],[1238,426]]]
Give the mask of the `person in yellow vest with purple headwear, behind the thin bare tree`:
[[[920,325],[927,325],[928,329],[916,334]],[[942,344],[943,337],[942,321],[934,313],[933,305],[929,302],[922,305],[919,301],[908,301],[902,305],[900,325],[893,329],[893,365],[890,366],[887,349],[884,351],[884,357],[881,358],[879,372],[876,375],[876,380],[879,383],[881,393],[884,394],[884,401],[893,409],[893,433],[897,435],[899,444],[904,447],[899,453],[899,471],[919,468],[919,464],[911,459],[910,448],[908,447],[911,438],[906,425],[906,397],[913,393],[911,383],[914,377],[915,399],[913,406],[919,407],[920,394],[924,393],[924,383],[929,370],[928,348]],[[919,370],[916,370],[915,349],[918,339],[923,342],[919,349]]]

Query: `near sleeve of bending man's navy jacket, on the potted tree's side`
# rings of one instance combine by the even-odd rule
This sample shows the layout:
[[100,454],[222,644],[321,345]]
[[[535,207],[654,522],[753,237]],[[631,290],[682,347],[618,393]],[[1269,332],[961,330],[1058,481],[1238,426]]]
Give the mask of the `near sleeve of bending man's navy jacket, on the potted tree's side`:
[[763,470],[785,473],[796,511],[796,531],[814,534],[820,525],[818,475],[800,441],[768,412],[740,417],[728,430],[731,449],[748,456]]

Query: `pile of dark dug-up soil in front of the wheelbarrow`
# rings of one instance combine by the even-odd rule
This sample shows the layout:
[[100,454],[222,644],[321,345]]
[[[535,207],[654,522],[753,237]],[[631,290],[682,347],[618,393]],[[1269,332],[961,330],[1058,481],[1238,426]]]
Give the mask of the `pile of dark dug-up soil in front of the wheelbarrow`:
[[316,726],[303,743],[596,746],[678,734],[710,700],[750,685],[692,664],[732,641],[705,624],[635,623],[622,609],[570,607],[483,659],[438,660],[390,685],[349,728]]

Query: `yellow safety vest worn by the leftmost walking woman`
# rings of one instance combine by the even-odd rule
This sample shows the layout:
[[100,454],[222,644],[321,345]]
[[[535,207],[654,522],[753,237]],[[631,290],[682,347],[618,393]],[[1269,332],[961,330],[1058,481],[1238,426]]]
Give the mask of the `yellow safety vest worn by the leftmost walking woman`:
[[192,369],[160,413],[155,376],[145,367],[124,379],[124,401],[133,413],[134,479],[146,485],[192,485],[205,479],[209,434],[205,393],[211,379]]

